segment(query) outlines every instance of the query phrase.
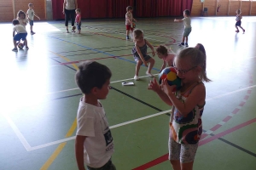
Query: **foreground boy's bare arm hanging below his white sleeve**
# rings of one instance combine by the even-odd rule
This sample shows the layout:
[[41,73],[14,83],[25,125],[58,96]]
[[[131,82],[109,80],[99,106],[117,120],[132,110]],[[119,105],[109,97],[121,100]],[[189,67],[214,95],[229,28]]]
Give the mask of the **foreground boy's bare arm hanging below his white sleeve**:
[[84,140],[86,136],[77,135],[75,142],[75,154],[79,170],[85,170],[84,167]]

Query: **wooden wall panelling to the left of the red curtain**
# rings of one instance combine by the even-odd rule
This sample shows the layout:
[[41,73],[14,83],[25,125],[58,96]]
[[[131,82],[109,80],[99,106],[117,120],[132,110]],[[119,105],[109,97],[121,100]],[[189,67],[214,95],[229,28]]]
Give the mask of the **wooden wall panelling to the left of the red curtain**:
[[[41,20],[46,20],[46,0],[0,0],[0,22],[11,22],[16,18],[20,9],[26,13],[28,3],[33,3],[35,13]],[[35,17],[34,20],[38,18]]]

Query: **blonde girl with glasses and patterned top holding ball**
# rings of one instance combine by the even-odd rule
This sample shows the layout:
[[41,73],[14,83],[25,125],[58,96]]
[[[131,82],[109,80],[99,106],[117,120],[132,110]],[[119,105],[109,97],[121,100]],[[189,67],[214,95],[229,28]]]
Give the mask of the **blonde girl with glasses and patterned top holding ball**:
[[148,84],[167,105],[172,105],[169,130],[169,160],[174,170],[193,169],[195,152],[202,133],[201,116],[206,104],[206,55],[198,48],[184,48],[174,59],[182,88],[172,93],[166,79],[159,85],[154,79]]

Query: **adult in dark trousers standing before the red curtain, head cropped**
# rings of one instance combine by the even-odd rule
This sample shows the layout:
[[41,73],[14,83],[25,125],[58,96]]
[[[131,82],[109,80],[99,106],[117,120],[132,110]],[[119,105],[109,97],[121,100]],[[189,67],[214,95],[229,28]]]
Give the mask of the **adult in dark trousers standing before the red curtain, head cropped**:
[[69,17],[71,18],[72,26],[74,26],[76,8],[78,8],[78,0],[64,0],[62,13],[65,14],[65,26],[67,27],[67,33],[69,33],[68,31]]

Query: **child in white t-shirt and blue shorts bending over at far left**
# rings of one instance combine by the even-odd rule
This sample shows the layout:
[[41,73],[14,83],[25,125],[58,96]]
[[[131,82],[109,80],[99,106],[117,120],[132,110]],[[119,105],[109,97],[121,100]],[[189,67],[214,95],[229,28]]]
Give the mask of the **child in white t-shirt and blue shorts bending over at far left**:
[[[24,45],[26,46],[26,49],[28,49],[27,41],[26,41],[27,32],[26,32],[25,27],[20,25],[19,20],[13,20],[13,25],[14,25],[13,41],[14,41],[14,45],[15,45],[15,48],[13,48],[13,51],[15,51],[15,52],[18,51],[17,42],[20,42],[20,40],[24,41]],[[15,32],[17,32],[16,35],[15,35]]]

